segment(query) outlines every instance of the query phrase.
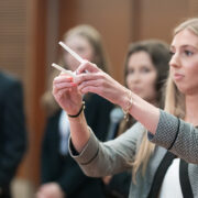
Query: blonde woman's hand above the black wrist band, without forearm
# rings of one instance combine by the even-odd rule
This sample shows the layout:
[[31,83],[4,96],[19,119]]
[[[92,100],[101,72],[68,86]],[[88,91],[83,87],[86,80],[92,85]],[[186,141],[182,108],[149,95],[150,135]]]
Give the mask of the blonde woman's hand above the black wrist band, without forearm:
[[68,113],[76,114],[82,102],[81,94],[74,82],[74,78],[61,74],[53,81],[53,95],[58,105]]

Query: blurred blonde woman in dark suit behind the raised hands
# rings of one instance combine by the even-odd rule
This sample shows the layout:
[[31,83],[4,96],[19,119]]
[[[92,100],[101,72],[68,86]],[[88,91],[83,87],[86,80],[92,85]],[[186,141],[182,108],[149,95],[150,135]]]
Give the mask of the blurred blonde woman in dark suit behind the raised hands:
[[[109,72],[101,37],[92,26],[78,25],[70,29],[64,35],[63,42],[84,59],[96,63],[101,69]],[[59,65],[75,70],[79,63],[64,51]],[[53,72],[53,77],[59,74],[57,70]],[[113,105],[94,94],[84,96],[84,101],[88,124],[95,130],[99,140],[105,141],[109,113]],[[52,90],[45,92],[43,105],[48,113],[48,119],[42,144],[42,185],[36,194],[37,198],[102,198],[102,180],[85,176],[68,153],[69,123],[67,114],[55,102]]]

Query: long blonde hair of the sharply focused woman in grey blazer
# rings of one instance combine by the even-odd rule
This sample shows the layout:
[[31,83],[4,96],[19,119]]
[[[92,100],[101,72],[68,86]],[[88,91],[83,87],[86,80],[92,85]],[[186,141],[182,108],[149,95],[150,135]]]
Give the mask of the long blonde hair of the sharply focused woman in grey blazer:
[[[188,29],[198,35],[198,18],[185,20],[183,23],[174,29],[174,35],[178,32]],[[178,118],[185,118],[185,96],[178,90],[175,82],[173,81],[170,74],[165,84],[165,111],[172,113]],[[145,174],[146,165],[150,156],[154,152],[155,145],[147,141],[146,133],[143,134],[142,143],[136,153],[133,165],[133,183],[135,184],[135,174],[142,165],[142,174]]]

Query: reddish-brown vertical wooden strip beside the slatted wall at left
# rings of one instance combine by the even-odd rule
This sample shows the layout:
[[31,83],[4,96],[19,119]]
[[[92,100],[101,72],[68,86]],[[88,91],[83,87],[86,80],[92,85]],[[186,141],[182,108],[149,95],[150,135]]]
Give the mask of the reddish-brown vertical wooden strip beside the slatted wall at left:
[[40,183],[41,140],[44,129],[44,113],[41,97],[45,90],[46,68],[46,7],[47,0],[32,0],[29,13],[29,44],[31,50],[28,61],[28,121],[29,121],[29,177]]

